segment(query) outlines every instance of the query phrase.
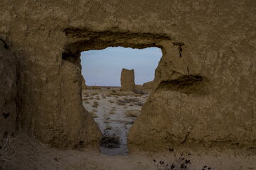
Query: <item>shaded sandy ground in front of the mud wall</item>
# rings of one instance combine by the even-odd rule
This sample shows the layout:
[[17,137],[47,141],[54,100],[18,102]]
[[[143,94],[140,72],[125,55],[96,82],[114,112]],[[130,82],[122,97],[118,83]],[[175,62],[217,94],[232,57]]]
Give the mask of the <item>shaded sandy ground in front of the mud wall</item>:
[[[175,151],[161,154],[139,153],[110,156],[90,150],[55,149],[43,145],[22,132],[17,140],[15,157],[6,164],[6,170],[166,170],[166,164],[169,169],[171,169],[171,164],[174,164],[177,170],[181,169],[181,160],[178,159],[181,153]],[[243,154],[191,153],[185,158],[189,160],[186,164],[187,170],[256,169],[255,155],[245,157]],[[204,166],[207,167],[203,168]]]

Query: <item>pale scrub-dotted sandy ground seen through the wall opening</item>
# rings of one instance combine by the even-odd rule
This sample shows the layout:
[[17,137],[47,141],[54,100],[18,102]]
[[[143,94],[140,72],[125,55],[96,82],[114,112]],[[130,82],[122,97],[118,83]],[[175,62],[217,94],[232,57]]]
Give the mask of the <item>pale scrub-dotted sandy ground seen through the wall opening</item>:
[[[145,91],[146,92],[146,91]],[[114,135],[120,145],[100,148],[102,154],[127,154],[127,133],[139,115],[143,103],[149,97],[129,91],[119,91],[119,87],[101,87],[82,91],[83,106],[94,117],[102,133]]]

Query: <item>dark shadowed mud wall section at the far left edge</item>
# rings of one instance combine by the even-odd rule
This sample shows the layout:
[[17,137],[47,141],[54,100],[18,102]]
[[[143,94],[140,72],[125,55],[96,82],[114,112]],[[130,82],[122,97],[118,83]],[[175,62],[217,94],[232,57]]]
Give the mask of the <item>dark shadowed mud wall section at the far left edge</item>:
[[[16,128],[17,62],[6,39],[0,37],[0,138]],[[6,134],[7,133],[7,134]]]

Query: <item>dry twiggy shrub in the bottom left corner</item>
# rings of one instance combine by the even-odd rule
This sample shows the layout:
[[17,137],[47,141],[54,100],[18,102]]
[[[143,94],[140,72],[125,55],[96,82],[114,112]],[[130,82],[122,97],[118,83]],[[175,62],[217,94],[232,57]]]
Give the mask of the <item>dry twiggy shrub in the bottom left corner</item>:
[[8,132],[4,132],[0,137],[0,169],[4,170],[6,164],[15,157],[15,147],[16,137],[9,135]]

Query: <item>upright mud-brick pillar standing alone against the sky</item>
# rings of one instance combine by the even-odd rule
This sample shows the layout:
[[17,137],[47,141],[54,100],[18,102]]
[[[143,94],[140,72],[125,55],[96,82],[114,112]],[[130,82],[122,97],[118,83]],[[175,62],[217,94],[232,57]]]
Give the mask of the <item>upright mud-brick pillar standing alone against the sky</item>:
[[134,69],[122,69],[121,72],[121,91],[134,91]]

